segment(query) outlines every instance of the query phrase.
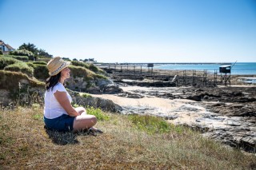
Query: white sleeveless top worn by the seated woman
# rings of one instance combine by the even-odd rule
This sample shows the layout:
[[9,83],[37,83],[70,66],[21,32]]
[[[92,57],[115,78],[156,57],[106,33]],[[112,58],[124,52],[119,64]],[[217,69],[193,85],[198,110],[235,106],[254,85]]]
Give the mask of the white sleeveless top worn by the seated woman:
[[46,90],[45,93],[45,107],[44,107],[44,117],[47,119],[54,119],[56,117],[62,116],[62,114],[68,114],[66,113],[65,109],[62,108],[62,105],[60,105],[57,101],[57,99],[54,97],[54,93],[58,92],[66,92],[66,95],[70,101],[72,102],[72,97],[70,97],[70,94],[66,91],[66,88],[62,85],[62,83],[58,83],[57,85],[54,85],[54,88],[50,88],[49,90]]

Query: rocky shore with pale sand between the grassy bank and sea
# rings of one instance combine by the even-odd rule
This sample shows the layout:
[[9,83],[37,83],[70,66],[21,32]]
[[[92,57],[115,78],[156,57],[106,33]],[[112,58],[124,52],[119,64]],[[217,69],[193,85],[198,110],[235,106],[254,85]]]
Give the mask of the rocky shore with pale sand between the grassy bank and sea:
[[[120,73],[118,73],[120,75]],[[176,86],[172,81],[115,77],[121,90],[94,95],[114,101],[121,113],[152,114],[186,125],[203,136],[255,153],[256,86],[234,77],[231,86]]]

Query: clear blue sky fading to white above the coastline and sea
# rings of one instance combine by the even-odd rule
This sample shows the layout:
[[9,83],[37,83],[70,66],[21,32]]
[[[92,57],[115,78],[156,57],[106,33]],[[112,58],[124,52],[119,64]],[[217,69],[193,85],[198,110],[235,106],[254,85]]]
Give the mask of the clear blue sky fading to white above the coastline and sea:
[[0,0],[0,39],[102,62],[256,61],[255,0]]

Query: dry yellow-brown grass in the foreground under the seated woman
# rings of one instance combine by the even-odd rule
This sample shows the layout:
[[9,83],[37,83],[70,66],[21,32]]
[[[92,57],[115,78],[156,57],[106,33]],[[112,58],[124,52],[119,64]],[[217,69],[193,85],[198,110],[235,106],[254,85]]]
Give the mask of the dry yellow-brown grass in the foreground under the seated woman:
[[189,129],[149,134],[108,114],[104,133],[50,132],[42,108],[0,113],[0,169],[255,169],[255,156],[223,148]]

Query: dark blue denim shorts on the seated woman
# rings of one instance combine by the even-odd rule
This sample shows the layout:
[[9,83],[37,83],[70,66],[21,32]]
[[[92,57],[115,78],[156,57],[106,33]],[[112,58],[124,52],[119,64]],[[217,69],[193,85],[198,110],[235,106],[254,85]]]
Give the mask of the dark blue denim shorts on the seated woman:
[[47,119],[44,117],[46,128],[56,130],[58,132],[71,132],[73,130],[74,118],[69,115],[63,114],[54,119]]

